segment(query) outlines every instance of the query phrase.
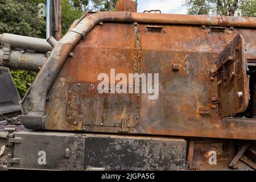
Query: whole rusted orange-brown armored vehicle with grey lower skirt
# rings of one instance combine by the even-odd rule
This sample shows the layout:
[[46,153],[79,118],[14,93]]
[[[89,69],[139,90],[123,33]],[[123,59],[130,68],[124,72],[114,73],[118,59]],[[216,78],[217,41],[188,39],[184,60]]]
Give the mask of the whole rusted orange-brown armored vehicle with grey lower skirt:
[[9,168],[255,169],[256,18],[118,1],[48,42]]

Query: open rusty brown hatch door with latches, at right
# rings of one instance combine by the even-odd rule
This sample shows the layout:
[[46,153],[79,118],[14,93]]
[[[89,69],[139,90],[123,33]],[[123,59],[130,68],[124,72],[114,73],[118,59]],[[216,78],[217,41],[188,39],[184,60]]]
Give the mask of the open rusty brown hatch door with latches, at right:
[[249,76],[246,76],[247,63],[245,40],[237,35],[218,55],[217,88],[221,117],[242,113],[249,104]]

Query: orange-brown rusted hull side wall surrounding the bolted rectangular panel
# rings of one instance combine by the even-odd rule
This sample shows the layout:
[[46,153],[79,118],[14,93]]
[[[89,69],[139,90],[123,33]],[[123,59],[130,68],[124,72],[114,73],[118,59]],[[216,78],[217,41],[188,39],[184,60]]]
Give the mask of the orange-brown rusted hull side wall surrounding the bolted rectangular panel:
[[[255,139],[253,119],[222,120],[217,108],[211,108],[212,97],[217,97],[217,80],[210,80],[210,70],[216,68],[218,54],[237,34],[245,37],[247,49],[251,49],[256,31],[235,28],[228,34],[200,26],[162,25],[163,32],[157,33],[148,32],[147,26],[141,24],[143,72],[159,73],[159,99],[150,101],[147,94],[141,94],[139,123],[129,133]],[[115,68],[116,74],[132,73],[133,47],[131,24],[94,27],[72,50],[74,56],[67,59],[49,90],[47,129],[75,130],[77,126],[65,119],[70,86],[97,84],[97,75],[109,75],[110,68]],[[179,64],[180,70],[172,71],[172,64]],[[200,115],[201,107],[209,109],[209,117]],[[119,133],[120,129],[84,126],[84,130]]]

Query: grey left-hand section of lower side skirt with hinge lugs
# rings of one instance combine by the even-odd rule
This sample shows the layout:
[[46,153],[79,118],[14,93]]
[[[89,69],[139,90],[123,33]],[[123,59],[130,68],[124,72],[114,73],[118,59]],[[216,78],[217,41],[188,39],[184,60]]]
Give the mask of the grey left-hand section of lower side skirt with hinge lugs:
[[[14,142],[10,147],[12,158],[19,159],[19,163],[13,164],[14,168],[84,169],[85,137],[79,137],[77,134],[23,130],[15,133],[15,138],[9,142]],[[43,158],[39,159],[43,155],[46,157],[46,163]]]

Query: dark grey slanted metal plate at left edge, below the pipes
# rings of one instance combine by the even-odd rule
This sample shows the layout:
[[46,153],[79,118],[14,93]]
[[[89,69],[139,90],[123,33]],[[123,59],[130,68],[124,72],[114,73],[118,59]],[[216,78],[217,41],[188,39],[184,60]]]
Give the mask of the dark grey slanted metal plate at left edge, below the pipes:
[[0,67],[0,114],[20,111],[19,93],[14,85],[9,68]]

